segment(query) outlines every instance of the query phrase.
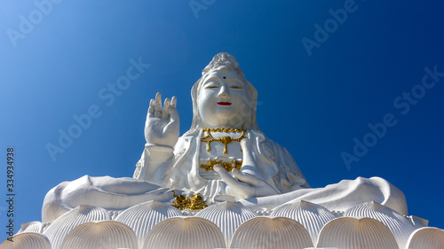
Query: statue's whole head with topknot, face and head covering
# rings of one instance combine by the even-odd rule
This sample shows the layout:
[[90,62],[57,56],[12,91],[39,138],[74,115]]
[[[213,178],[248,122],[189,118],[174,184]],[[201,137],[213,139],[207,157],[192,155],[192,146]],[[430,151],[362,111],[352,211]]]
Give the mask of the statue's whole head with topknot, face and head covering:
[[257,129],[258,91],[245,79],[236,59],[218,53],[202,70],[191,90],[193,123],[196,128]]

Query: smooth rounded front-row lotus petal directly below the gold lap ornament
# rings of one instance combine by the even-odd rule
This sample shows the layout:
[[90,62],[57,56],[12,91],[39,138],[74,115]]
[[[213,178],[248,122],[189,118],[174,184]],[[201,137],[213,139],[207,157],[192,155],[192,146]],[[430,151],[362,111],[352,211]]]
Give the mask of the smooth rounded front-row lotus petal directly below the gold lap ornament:
[[145,249],[226,248],[224,235],[213,222],[200,217],[172,217],[149,231]]

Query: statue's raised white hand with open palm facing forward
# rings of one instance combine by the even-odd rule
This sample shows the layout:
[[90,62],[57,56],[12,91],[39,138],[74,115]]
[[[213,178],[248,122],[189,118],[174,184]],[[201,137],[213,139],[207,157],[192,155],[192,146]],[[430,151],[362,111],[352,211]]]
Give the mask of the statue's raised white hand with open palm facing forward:
[[178,142],[179,122],[176,97],[165,98],[162,108],[162,95],[158,92],[149,103],[145,138],[147,144],[174,147]]

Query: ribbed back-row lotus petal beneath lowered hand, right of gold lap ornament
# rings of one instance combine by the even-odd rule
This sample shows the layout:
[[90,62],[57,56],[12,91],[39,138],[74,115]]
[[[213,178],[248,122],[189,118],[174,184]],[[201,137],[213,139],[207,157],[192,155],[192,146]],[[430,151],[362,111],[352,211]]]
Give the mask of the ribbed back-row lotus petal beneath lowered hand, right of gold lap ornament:
[[228,201],[209,206],[196,214],[196,217],[207,219],[218,226],[224,234],[226,245],[230,245],[234,231],[243,222],[256,216],[250,209],[243,207],[242,204]]

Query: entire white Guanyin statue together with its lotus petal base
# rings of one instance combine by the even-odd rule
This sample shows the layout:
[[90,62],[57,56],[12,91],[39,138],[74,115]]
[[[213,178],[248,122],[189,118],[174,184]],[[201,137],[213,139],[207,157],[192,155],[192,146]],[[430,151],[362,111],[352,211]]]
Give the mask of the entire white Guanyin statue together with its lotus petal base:
[[[157,93],[151,99],[145,125],[147,144],[133,178],[84,175],[60,183],[47,193],[42,209],[47,228],[44,230],[42,226],[38,232],[48,237],[52,248],[67,248],[63,247],[67,245],[77,248],[75,245],[80,246],[81,242],[69,244],[67,240],[79,237],[73,233],[80,232],[78,228],[85,223],[98,220],[112,220],[131,228],[138,245],[118,245],[125,248],[174,248],[169,243],[180,237],[182,242],[188,241],[181,248],[405,248],[416,241],[435,244],[408,248],[443,248],[444,232],[427,228],[427,221],[421,218],[407,216],[404,194],[382,178],[358,177],[324,188],[311,188],[291,154],[258,128],[258,92],[232,55],[218,53],[202,70],[191,96],[193,121],[182,136],[179,136],[176,97],[163,101]],[[155,219],[144,216],[148,213],[141,209],[134,214],[130,212],[142,207],[158,208],[161,210],[158,213],[166,216],[154,227],[140,228],[147,226],[143,225],[147,223],[143,219]],[[164,211],[171,208],[175,209],[175,215],[173,211]],[[66,221],[71,219],[69,215],[91,210],[107,214],[103,214],[105,218],[78,222],[75,225],[78,227],[73,226],[63,236],[54,235],[56,230],[69,226]],[[167,213],[196,219],[201,222],[200,228],[216,224],[217,235],[211,235],[208,229],[196,237],[191,222],[184,225],[180,221],[186,218],[180,220],[171,215],[166,219]],[[139,222],[124,222],[123,217],[131,215],[137,216]],[[279,223],[287,230],[280,231],[279,226],[270,222]],[[165,232],[163,227],[169,231]],[[177,227],[184,229],[174,230]],[[260,230],[264,228],[268,230]],[[286,236],[288,228],[300,230],[300,235]],[[347,234],[351,230],[353,235]],[[26,228],[23,231],[26,234]],[[276,234],[280,234],[279,238]],[[434,237],[430,238],[430,234]],[[83,236],[90,235],[91,231]],[[207,241],[216,241],[220,236],[222,242]],[[296,242],[290,241],[297,236]],[[261,239],[268,240],[261,242]],[[190,242],[194,240],[200,242]],[[290,241],[288,245],[286,241]],[[92,244],[82,246],[78,248],[96,248]]]

